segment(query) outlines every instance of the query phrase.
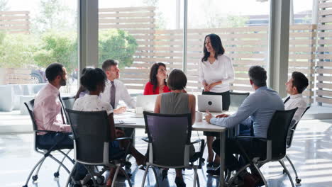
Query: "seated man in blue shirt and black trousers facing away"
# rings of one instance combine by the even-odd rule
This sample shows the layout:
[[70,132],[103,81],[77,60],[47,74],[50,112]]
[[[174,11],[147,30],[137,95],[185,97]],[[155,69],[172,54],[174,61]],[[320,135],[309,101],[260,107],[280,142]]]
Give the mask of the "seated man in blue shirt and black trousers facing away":
[[[266,86],[267,74],[265,69],[260,66],[253,66],[249,69],[250,84],[255,89],[253,94],[250,94],[242,105],[238,108],[238,111],[233,115],[223,115],[223,118],[214,118],[210,113],[205,116],[208,123],[223,126],[226,128],[233,128],[235,125],[242,123],[243,125],[251,125],[253,123],[253,132],[255,137],[267,137],[267,129],[270,124],[270,120],[275,111],[284,110],[284,104],[282,99],[276,91],[268,89]],[[251,154],[262,157],[266,152],[266,142],[258,142],[250,139],[240,139],[241,145],[244,149]],[[240,163],[233,154],[241,154],[236,141],[232,138],[226,139],[225,147],[225,166],[228,170],[240,169]],[[214,141],[214,152],[220,154],[220,140]],[[219,169],[209,170],[210,174],[219,174]],[[248,186],[256,186],[259,181],[259,177],[248,172],[242,172],[240,174]]]

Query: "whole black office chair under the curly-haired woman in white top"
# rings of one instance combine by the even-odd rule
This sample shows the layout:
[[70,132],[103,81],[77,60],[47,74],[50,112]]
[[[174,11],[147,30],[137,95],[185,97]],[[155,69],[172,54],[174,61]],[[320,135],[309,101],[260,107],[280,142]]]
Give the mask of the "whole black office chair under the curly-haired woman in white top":
[[[68,108],[66,111],[69,115],[70,125],[74,135],[74,160],[76,163],[83,164],[87,168],[89,175],[86,178],[92,179],[94,186],[102,185],[104,183],[104,176],[102,176],[102,174],[113,167],[116,168],[116,173],[112,186],[115,184],[119,170],[125,174],[129,186],[131,186],[130,178],[122,168],[124,162],[126,162],[126,155],[130,143],[123,151],[112,155],[109,154],[111,151],[109,149],[111,131],[106,111],[85,112],[73,111]],[[116,140],[131,140],[131,138],[121,137]],[[96,166],[104,166],[104,168],[101,169],[101,171],[95,171]],[[72,181],[71,176],[72,172],[70,173],[66,186]],[[83,181],[87,180],[84,179]],[[76,181],[72,182],[76,183]]]

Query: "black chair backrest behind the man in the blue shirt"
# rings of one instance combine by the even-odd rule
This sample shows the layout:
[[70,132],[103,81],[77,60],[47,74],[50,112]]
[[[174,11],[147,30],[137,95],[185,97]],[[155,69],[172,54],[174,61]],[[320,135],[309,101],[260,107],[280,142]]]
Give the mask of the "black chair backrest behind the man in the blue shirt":
[[270,141],[272,144],[272,159],[282,159],[286,154],[287,133],[295,111],[297,111],[297,108],[289,111],[275,111],[275,114],[272,116],[267,130],[267,141]]

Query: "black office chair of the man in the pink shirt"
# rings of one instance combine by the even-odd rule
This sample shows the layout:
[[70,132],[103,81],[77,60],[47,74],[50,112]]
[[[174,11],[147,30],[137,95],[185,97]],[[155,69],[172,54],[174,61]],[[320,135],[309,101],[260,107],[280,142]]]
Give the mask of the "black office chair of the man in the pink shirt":
[[[28,179],[26,180],[26,184],[23,187],[27,187],[28,186],[28,182],[30,181],[31,175],[33,174],[33,171],[35,171],[35,169],[38,167],[37,171],[35,172],[35,175],[32,176],[33,181],[36,181],[38,179],[38,172],[40,170],[40,167],[43,165],[43,162],[45,161],[46,158],[50,157],[51,159],[55,160],[55,162],[57,162],[58,164],[60,164],[60,166],[62,166],[67,172],[68,174],[70,173],[70,171],[67,169],[67,167],[62,164],[62,162],[64,161],[65,158],[69,159],[70,162],[72,162],[74,164],[74,161],[67,155],[70,153],[70,151],[73,149],[73,146],[58,146],[57,143],[55,143],[55,145],[52,146],[45,146],[45,145],[40,145],[40,143],[38,142],[38,132],[48,132],[48,133],[56,133],[54,131],[48,131],[48,130],[38,130],[37,129],[37,124],[35,123],[35,117],[33,115],[33,105],[34,105],[35,100],[31,100],[28,101],[28,103],[24,103],[24,105],[26,106],[28,113],[30,115],[31,118],[31,122],[33,124],[33,145],[35,147],[35,151],[43,154],[43,158],[41,158],[36,164],[35,166],[33,166],[33,169],[31,170],[30,174],[28,175]],[[63,152],[62,149],[69,149],[67,153]],[[55,157],[52,156],[52,152],[54,151],[58,151],[61,154],[64,155],[62,161],[60,162],[58,159],[56,159]],[[54,173],[55,177],[59,176],[59,168],[57,169],[57,171]]]

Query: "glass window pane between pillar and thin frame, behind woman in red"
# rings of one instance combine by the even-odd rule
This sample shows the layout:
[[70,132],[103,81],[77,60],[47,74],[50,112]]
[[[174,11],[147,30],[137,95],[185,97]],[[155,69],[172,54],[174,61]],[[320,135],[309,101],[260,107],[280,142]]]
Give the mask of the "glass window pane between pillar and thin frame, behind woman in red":
[[166,64],[167,72],[182,68],[183,5],[177,2],[99,1],[99,66],[118,60],[130,94],[143,94],[154,62]]

